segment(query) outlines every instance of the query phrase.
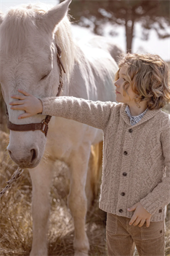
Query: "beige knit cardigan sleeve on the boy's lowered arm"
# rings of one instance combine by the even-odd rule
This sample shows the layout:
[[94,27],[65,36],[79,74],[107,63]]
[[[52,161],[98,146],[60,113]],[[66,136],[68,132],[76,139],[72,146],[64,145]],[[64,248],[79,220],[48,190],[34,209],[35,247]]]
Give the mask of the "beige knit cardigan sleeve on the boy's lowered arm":
[[154,214],[158,209],[170,203],[170,125],[161,133],[161,144],[166,175],[163,175],[161,182],[152,192],[140,200],[142,206],[150,214]]

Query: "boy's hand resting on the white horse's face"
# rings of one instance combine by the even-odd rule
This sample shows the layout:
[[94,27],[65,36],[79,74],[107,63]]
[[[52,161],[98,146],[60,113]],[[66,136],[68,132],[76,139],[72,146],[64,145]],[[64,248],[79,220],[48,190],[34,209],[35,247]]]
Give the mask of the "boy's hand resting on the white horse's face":
[[25,113],[19,115],[18,119],[31,117],[43,111],[43,106],[39,98],[34,97],[30,93],[27,93],[25,90],[18,90],[23,95],[13,95],[11,98],[17,98],[19,101],[12,101],[9,103],[11,109],[15,110],[25,110]]

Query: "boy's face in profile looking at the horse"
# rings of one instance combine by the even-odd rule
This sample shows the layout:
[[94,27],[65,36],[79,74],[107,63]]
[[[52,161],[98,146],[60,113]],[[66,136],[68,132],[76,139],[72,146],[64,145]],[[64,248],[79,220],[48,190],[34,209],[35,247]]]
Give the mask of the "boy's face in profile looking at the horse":
[[123,88],[124,82],[126,81],[126,66],[122,66],[119,70],[119,78],[115,82],[116,86],[116,101],[125,103],[128,105],[136,105],[134,101],[134,97],[136,96],[136,93],[131,89],[131,85],[127,89],[128,94]]

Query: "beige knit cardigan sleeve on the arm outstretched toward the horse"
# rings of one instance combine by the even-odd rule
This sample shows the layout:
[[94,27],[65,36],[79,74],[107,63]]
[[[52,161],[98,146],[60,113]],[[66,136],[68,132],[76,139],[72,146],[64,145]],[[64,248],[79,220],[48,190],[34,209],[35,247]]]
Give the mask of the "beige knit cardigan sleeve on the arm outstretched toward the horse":
[[116,102],[89,101],[83,98],[61,96],[41,98],[42,115],[75,120],[94,128],[104,129]]

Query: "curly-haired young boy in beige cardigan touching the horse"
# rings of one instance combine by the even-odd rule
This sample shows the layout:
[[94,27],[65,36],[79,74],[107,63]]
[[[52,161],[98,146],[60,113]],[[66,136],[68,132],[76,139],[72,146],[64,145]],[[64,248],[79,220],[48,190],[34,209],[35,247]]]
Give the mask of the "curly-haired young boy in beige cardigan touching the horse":
[[104,133],[100,208],[107,212],[109,256],[164,255],[164,219],[170,203],[169,70],[158,55],[127,54],[116,74],[116,101],[12,96],[23,109],[73,119]]

